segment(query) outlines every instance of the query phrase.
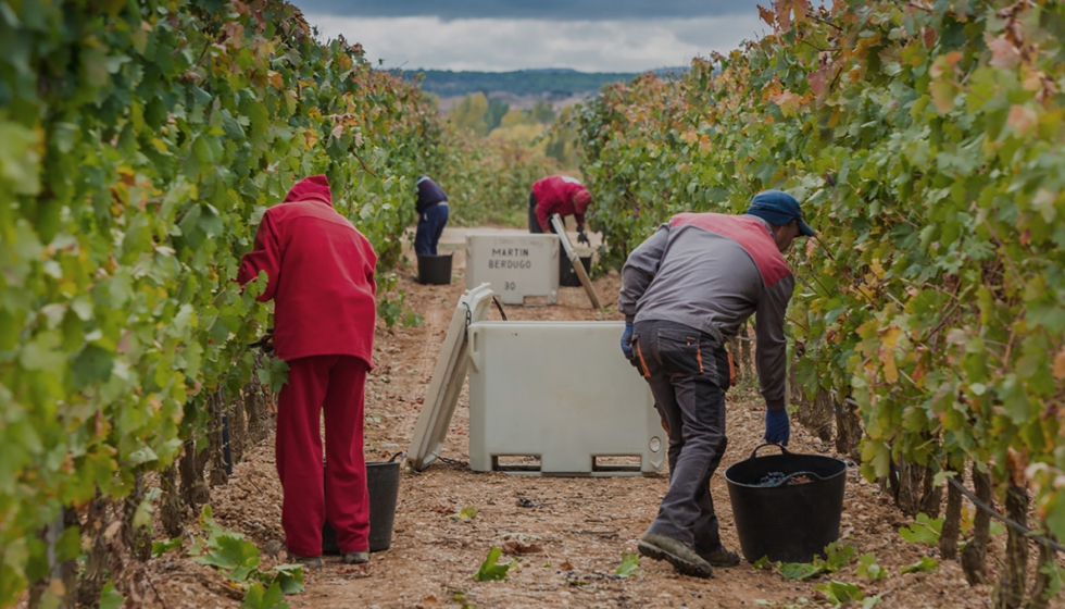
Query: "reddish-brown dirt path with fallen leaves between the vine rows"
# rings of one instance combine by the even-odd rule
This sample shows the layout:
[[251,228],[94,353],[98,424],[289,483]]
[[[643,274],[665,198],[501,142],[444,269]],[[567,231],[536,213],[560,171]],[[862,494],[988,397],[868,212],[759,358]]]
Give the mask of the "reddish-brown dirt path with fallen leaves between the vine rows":
[[[456,259],[456,274],[461,274]],[[399,270],[399,288],[408,306],[424,315],[421,327],[378,328],[377,369],[366,388],[367,460],[384,460],[405,450],[436,362],[451,311],[463,285],[421,286],[413,271]],[[610,313],[592,311],[579,288],[562,288],[560,306],[509,307],[514,320],[618,319],[613,312],[616,274],[596,282]],[[498,319],[491,312],[490,319]],[[643,559],[640,574],[614,579],[623,552],[636,550],[636,539],[651,522],[667,488],[665,473],[653,477],[565,478],[477,474],[468,470],[468,402],[464,390],[448,435],[443,457],[422,474],[404,472],[396,514],[392,546],[375,554],[368,569],[342,566],[329,558],[311,572],[302,595],[288,597],[293,607],[756,607],[814,599],[814,585],[826,577],[794,582],[775,571],[748,563],[715,570],[711,580],[674,574],[672,568]],[[729,446],[712,492],[727,546],[739,549],[722,472],[746,458],[760,440],[762,409],[756,393],[739,387],[728,396]],[[834,453],[795,424],[792,450]],[[226,526],[249,535],[260,547],[283,538],[280,488],[273,470],[273,444],[264,443],[240,463],[227,487],[214,489],[215,514]],[[523,507],[530,506],[530,507]],[[477,517],[451,517],[466,507]],[[904,542],[897,533],[907,524],[887,496],[848,472],[842,523],[845,543],[859,552],[873,552],[889,576],[869,583],[851,564],[832,579],[857,583],[881,594],[878,607],[988,607],[989,592],[970,588],[954,561],[930,573],[901,574],[900,569],[932,555],[931,546]],[[504,582],[475,582],[489,548],[508,535],[534,536],[541,548],[517,557]],[[275,542],[276,543],[276,542]],[[993,562],[993,560],[992,560]],[[163,571],[165,572],[165,571]],[[202,606],[188,596],[190,584],[175,580],[163,587],[168,607]],[[184,586],[184,587],[183,587]],[[185,591],[185,592],[183,592]],[[202,589],[200,591],[203,592]],[[201,597],[202,598],[202,597]],[[192,602],[192,605],[190,605]],[[217,606],[235,601],[214,596]]]

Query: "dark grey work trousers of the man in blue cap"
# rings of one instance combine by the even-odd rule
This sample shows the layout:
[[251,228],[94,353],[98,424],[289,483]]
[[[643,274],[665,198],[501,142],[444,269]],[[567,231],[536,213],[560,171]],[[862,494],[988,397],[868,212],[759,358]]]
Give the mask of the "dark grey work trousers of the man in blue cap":
[[709,334],[675,322],[639,322],[634,335],[639,368],[669,435],[669,490],[648,531],[710,554],[722,545],[710,478],[728,444],[728,355]]

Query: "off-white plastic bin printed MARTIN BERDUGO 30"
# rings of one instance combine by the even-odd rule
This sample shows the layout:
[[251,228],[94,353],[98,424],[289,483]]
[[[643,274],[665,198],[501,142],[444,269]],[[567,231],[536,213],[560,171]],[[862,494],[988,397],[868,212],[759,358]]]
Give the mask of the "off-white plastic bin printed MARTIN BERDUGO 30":
[[559,237],[466,235],[466,288],[483,283],[491,284],[504,304],[554,304]]

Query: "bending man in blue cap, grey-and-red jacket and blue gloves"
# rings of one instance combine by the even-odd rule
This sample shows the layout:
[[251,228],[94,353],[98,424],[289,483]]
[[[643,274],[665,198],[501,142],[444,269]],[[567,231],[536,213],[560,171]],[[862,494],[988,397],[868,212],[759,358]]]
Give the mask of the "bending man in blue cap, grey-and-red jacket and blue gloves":
[[622,270],[622,351],[651,386],[669,436],[669,490],[638,547],[681,573],[709,577],[712,564],[739,563],[722,545],[710,478],[727,444],[725,339],[752,313],[765,439],[788,444],[784,321],[794,278],[782,253],[813,234],[799,201],[766,190],[744,215],[673,216]]

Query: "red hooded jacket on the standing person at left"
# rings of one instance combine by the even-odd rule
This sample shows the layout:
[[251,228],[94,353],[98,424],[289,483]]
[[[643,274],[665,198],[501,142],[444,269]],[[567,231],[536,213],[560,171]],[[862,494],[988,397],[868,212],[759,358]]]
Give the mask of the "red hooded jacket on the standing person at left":
[[354,356],[372,366],[376,264],[366,237],[333,209],[329,181],[314,175],[263,214],[237,281],[243,285],[266,272],[259,300],[274,300],[278,358]]

